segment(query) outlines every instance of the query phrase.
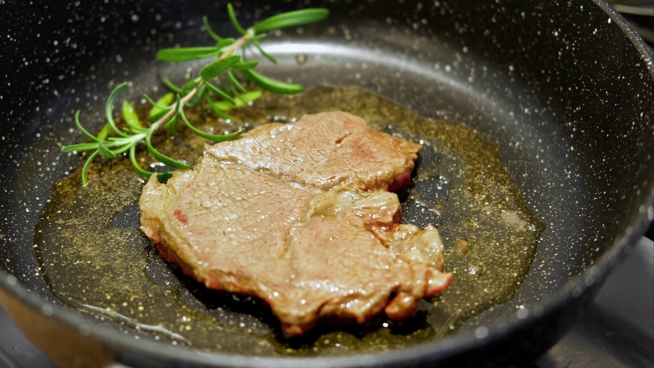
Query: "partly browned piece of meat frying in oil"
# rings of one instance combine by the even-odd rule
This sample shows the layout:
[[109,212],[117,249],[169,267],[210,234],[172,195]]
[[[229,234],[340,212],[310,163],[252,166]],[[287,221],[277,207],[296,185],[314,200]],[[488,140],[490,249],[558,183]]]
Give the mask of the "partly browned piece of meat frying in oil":
[[401,224],[388,191],[421,148],[343,112],[260,126],[165,184],[152,175],[141,230],[207,287],[266,301],[288,335],[325,318],[403,320],[453,276],[438,230]]

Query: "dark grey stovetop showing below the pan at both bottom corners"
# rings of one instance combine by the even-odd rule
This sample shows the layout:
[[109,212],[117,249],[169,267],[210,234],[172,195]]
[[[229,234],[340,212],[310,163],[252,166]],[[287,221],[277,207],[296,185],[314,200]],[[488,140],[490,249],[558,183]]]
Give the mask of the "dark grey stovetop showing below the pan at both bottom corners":
[[[606,280],[584,316],[528,368],[654,366],[654,242],[645,237]],[[0,309],[0,368],[54,368]]]

